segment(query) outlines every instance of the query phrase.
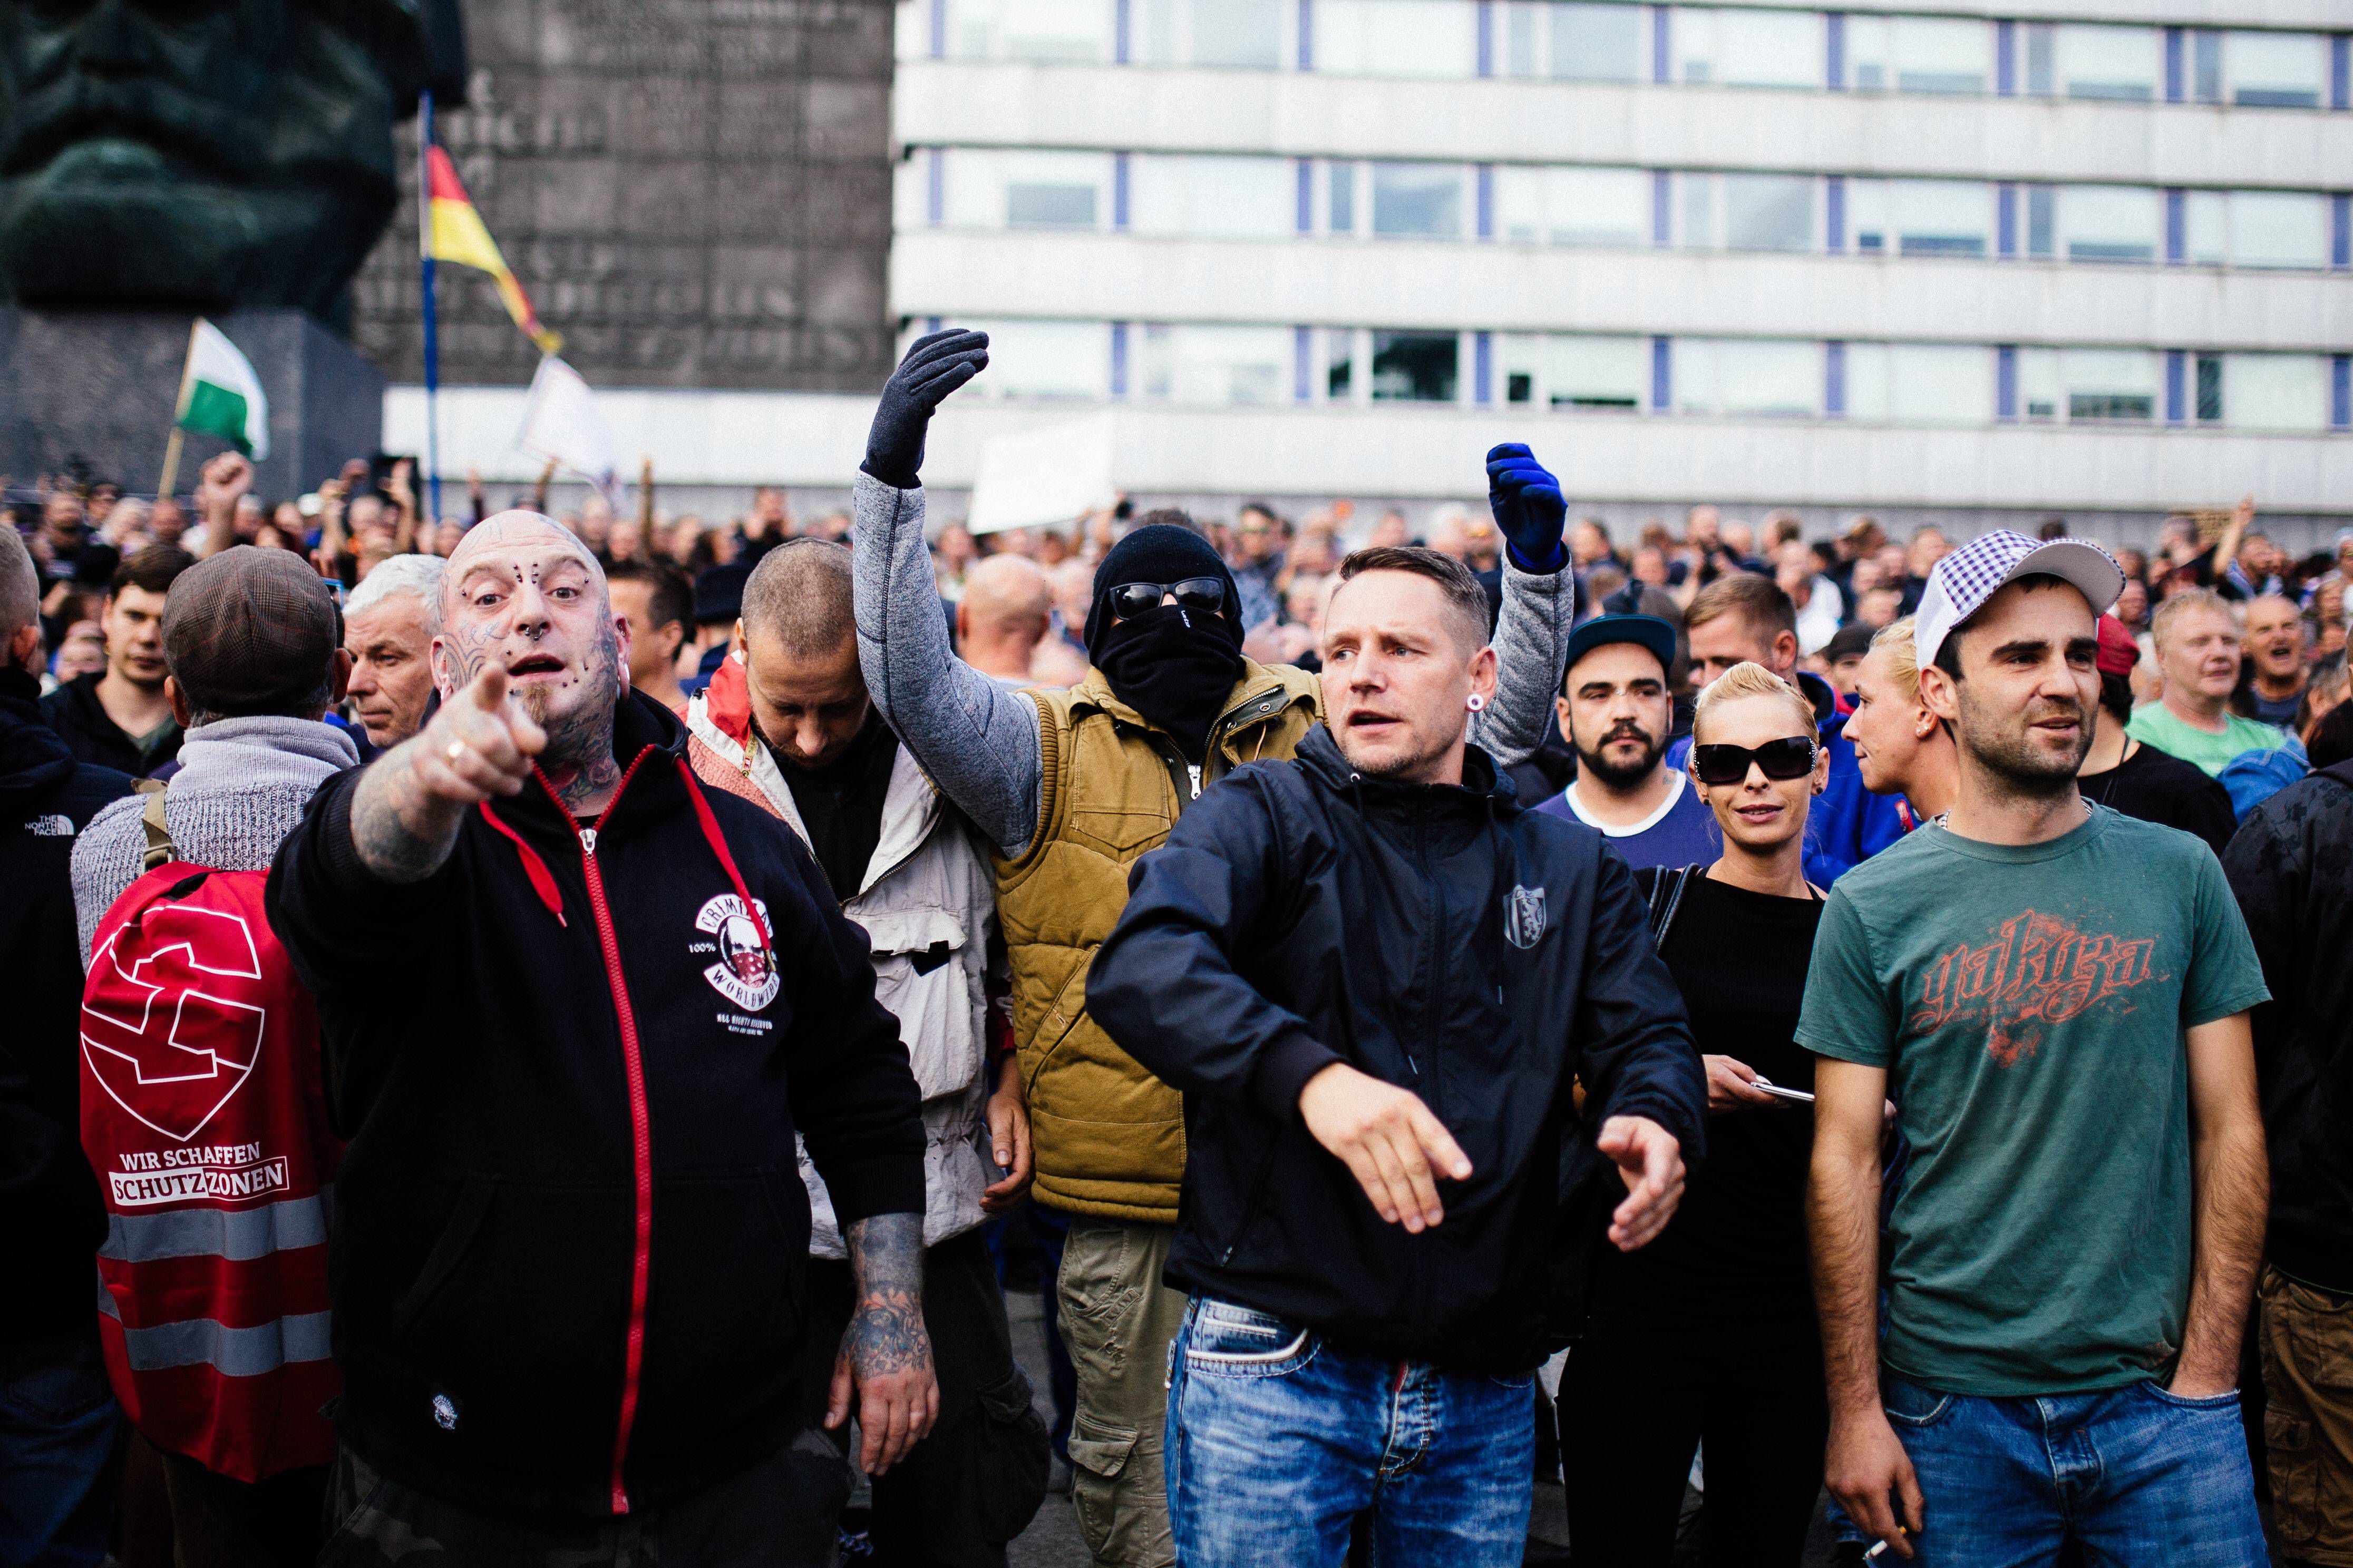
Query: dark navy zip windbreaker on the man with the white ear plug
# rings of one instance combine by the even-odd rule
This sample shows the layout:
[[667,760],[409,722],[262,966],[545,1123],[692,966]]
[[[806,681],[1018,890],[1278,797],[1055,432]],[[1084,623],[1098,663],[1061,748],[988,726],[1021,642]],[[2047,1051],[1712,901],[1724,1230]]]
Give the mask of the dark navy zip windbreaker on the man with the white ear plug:
[[[1626,863],[1520,811],[1485,752],[1464,780],[1358,778],[1322,726],[1235,769],[1136,863],[1087,1006],[1186,1095],[1169,1284],[1518,1373],[1574,1335],[1624,1197],[1588,1133],[1649,1117],[1697,1161],[1706,1074]],[[1473,1175],[1440,1182],[1435,1229],[1381,1222],[1306,1131],[1329,1063],[1412,1088],[1461,1143]]]

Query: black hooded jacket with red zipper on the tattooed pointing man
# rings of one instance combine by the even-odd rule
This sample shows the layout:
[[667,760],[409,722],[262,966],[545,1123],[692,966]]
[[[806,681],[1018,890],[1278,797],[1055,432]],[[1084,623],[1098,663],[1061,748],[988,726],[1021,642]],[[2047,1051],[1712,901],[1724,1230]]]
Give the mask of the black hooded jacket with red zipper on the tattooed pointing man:
[[365,769],[320,788],[271,867],[351,1135],[336,1429],[459,1505],[645,1509],[793,1439],[795,1128],[845,1225],[922,1213],[915,1077],[864,933],[781,823],[713,790],[767,966],[685,745],[666,708],[621,701],[595,875],[534,785],[471,811],[433,877],[384,882],[351,842]]

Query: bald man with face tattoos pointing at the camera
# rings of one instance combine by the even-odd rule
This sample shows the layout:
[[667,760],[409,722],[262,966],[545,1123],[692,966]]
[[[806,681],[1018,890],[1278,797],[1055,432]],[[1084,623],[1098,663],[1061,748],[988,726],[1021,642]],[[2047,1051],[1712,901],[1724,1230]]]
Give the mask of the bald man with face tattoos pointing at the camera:
[[826,1563],[795,1128],[859,1291],[828,1425],[856,1392],[873,1472],[936,1413],[925,1135],[866,938],[793,835],[696,783],[555,522],[466,534],[433,677],[440,712],[327,780],[268,884],[351,1138],[320,1561]]

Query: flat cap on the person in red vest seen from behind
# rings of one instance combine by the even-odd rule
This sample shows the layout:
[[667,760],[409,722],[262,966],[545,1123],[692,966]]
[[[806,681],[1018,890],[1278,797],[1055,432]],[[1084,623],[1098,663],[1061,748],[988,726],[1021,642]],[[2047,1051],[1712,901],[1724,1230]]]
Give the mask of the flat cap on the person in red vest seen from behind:
[[233,545],[172,578],[162,661],[198,712],[247,717],[311,701],[344,646],[327,581],[292,550]]

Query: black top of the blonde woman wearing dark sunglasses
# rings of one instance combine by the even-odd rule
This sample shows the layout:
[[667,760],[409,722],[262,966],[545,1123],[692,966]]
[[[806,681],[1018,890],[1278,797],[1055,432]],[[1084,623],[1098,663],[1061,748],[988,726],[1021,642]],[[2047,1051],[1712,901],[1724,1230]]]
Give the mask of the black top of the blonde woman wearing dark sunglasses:
[[[1682,990],[1701,1056],[1732,1056],[1781,1088],[1814,1088],[1798,1046],[1819,898],[1751,893],[1706,875],[1682,889],[1659,957]],[[1638,1253],[1602,1248],[1595,1316],[1812,1316],[1805,1173],[1814,1112],[1800,1100],[1708,1114],[1708,1159]]]

